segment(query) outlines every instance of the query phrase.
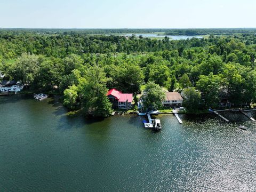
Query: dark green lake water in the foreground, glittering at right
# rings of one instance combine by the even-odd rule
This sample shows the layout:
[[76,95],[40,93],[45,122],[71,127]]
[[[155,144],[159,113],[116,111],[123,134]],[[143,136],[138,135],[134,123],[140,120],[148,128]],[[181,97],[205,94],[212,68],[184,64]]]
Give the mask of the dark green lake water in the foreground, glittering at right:
[[71,118],[51,98],[0,97],[0,112],[0,191],[255,191],[256,127],[239,113],[159,115],[154,132],[144,117]]

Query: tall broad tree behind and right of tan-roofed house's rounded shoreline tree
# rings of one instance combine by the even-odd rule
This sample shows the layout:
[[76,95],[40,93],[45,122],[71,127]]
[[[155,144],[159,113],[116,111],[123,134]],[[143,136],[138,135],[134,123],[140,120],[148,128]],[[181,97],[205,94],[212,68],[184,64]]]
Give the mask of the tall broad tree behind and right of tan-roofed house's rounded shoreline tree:
[[221,87],[221,78],[219,75],[209,76],[200,75],[197,82],[197,88],[202,92],[206,107],[217,107],[220,101],[219,93]]

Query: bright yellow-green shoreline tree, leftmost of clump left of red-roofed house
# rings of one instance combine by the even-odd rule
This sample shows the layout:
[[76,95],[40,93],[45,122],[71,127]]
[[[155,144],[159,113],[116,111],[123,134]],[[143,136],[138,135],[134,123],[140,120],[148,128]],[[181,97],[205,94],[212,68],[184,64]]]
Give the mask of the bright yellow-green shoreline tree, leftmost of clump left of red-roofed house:
[[71,110],[75,109],[77,106],[77,99],[77,86],[69,86],[69,88],[64,91],[63,105],[67,106]]

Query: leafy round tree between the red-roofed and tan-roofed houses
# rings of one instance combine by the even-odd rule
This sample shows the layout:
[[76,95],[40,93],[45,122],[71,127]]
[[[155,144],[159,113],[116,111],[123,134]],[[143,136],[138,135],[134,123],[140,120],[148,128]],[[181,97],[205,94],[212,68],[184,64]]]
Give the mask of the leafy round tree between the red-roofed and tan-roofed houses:
[[161,86],[148,82],[146,89],[142,93],[143,105],[146,109],[157,109],[163,106],[165,93]]

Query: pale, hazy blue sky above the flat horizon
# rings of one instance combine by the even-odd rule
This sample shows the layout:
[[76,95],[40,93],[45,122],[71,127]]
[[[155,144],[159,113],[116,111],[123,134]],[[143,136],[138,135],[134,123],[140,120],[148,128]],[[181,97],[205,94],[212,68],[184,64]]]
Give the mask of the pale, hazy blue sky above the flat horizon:
[[255,28],[256,0],[0,0],[0,28]]

